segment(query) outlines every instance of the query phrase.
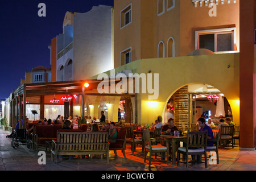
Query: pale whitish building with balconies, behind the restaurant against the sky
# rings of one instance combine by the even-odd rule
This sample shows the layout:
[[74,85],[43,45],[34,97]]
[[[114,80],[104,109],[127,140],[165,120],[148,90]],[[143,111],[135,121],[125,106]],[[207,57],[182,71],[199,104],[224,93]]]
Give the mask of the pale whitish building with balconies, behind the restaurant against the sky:
[[113,8],[104,5],[65,14],[63,33],[49,46],[52,81],[81,80],[113,69],[112,16]]

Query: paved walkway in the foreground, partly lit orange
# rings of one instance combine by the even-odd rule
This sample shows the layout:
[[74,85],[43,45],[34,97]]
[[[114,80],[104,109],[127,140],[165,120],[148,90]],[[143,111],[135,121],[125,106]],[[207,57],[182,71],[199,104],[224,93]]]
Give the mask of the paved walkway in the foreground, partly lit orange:
[[[256,151],[240,151],[238,147],[220,149],[220,164],[210,165],[205,169],[204,164],[189,164],[186,169],[185,164],[172,166],[152,158],[151,167],[148,167],[148,158],[143,162],[141,151],[131,154],[130,149],[126,149],[126,158],[123,158],[118,151],[118,159],[114,159],[113,151],[110,151],[110,162],[96,156],[94,159],[63,159],[55,164],[51,161],[51,154],[47,152],[46,164],[38,164],[38,153],[30,150],[26,145],[18,148],[11,147],[11,139],[6,138],[9,131],[0,129],[0,171],[256,171]],[[40,148],[45,150],[45,148]]]

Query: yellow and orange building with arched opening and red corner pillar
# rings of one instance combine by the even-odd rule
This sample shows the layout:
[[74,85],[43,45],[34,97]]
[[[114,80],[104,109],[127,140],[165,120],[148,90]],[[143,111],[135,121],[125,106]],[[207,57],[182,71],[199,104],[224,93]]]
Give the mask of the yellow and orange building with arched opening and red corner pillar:
[[[134,103],[137,105],[133,105],[133,121],[141,125],[151,124],[158,115],[162,115],[165,122],[170,103],[174,107],[175,122],[179,127],[180,122],[189,125],[204,110],[211,110],[212,117],[216,119],[232,115],[233,122],[241,125],[241,148],[254,148],[254,104],[245,99],[246,87],[240,85],[241,82],[250,81],[248,86],[255,87],[251,82],[251,78],[255,77],[254,72],[250,72],[250,76],[246,75],[244,68],[254,69],[251,66],[254,59],[248,59],[248,65],[243,62],[248,54],[246,46],[249,41],[244,41],[245,52],[240,52],[240,42],[247,38],[245,29],[248,26],[243,25],[242,34],[240,24],[246,24],[246,18],[253,17],[253,14],[246,14],[246,9],[253,12],[253,4],[253,1],[244,4],[239,0],[115,0],[114,70],[112,73],[106,72],[107,75],[113,75],[113,71],[115,74],[129,72],[159,75],[158,98],[148,99],[152,95],[148,92],[135,94],[134,100],[137,102]],[[254,19],[250,18],[250,23],[253,22]],[[252,38],[254,27],[249,27]],[[254,49],[253,41],[250,40],[250,45]],[[248,77],[251,77],[249,81]],[[140,88],[143,87],[142,82]],[[254,93],[254,89],[249,93],[252,100]],[[183,97],[179,94],[186,95],[185,101],[176,100]],[[203,104],[201,100],[206,103],[207,99],[202,96],[213,94],[220,98],[216,106]],[[200,114],[196,113],[197,104],[202,109]],[[249,113],[241,112],[241,105]],[[184,109],[185,118],[182,114]],[[114,110],[114,121],[117,120],[115,113],[117,111]],[[242,121],[246,118],[247,121],[242,122],[240,118]]]

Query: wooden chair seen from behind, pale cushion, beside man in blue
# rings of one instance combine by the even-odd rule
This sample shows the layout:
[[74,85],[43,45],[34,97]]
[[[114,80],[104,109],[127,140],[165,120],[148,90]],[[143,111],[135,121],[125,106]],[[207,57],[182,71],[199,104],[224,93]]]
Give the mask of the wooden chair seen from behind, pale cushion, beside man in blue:
[[180,153],[186,155],[186,168],[188,168],[188,155],[204,155],[205,168],[207,168],[207,131],[188,132],[186,143],[186,147],[179,147],[177,150],[177,165],[179,165]]

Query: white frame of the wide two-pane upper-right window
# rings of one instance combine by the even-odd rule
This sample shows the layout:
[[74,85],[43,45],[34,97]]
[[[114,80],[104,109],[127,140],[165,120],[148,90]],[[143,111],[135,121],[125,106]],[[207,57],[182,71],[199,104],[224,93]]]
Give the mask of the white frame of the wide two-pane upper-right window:
[[[218,34],[226,34],[226,33],[232,33],[233,38],[232,38],[232,49],[233,51],[217,51],[217,36]],[[220,29],[212,29],[212,30],[201,30],[201,31],[196,31],[195,32],[195,38],[196,38],[196,44],[195,44],[195,49],[199,49],[199,35],[207,35],[207,34],[215,34],[214,36],[214,52],[215,53],[232,53],[232,52],[238,52],[234,51],[236,48],[237,44],[237,37],[236,37],[236,28],[220,28]]]

